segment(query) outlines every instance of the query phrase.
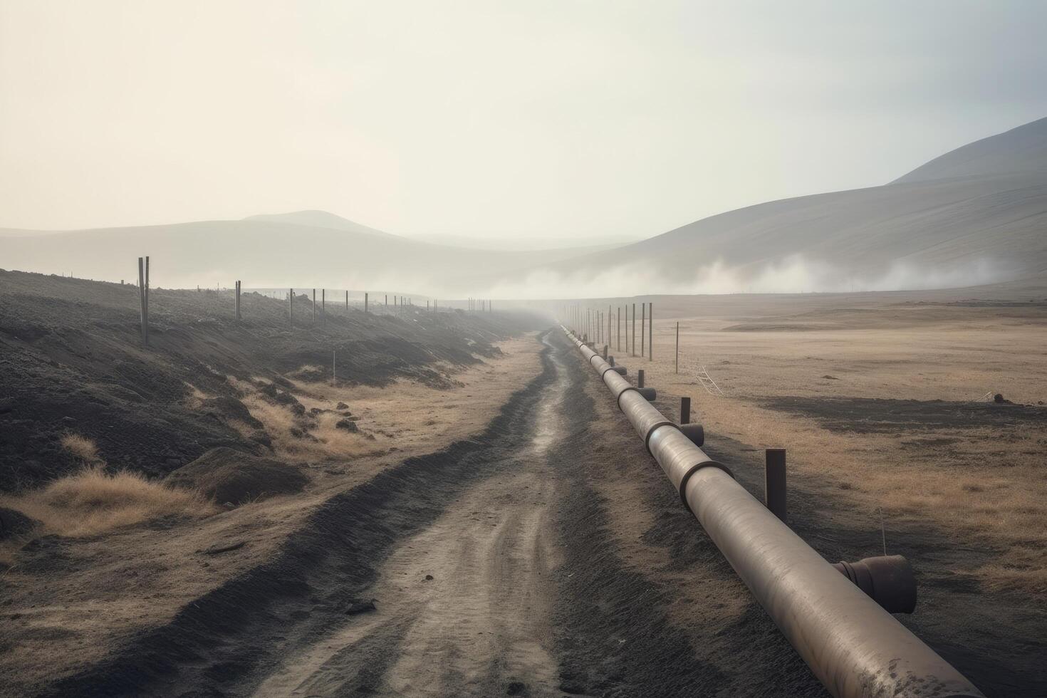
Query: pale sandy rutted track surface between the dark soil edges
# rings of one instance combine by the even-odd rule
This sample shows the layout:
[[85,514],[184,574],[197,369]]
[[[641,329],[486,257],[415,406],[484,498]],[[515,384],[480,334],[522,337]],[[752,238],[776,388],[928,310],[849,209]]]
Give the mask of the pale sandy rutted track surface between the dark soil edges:
[[[363,594],[378,611],[293,652],[255,695],[554,695],[559,561],[547,452],[565,389],[560,361],[553,357],[557,378],[543,388],[530,444],[397,547]],[[391,658],[376,671],[382,647]]]

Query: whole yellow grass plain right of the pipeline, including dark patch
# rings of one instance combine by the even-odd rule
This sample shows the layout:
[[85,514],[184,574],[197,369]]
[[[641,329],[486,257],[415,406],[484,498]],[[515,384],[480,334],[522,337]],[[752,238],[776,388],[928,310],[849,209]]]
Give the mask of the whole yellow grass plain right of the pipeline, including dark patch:
[[[834,483],[856,508],[1002,550],[960,570],[980,583],[1047,594],[1044,303],[681,297],[654,313],[653,361],[629,356],[631,324],[619,350],[615,320],[609,351],[630,377],[645,370],[664,413],[690,396],[710,440],[786,448],[794,476]],[[640,337],[638,319],[637,354]],[[996,393],[1027,407],[988,404]]]

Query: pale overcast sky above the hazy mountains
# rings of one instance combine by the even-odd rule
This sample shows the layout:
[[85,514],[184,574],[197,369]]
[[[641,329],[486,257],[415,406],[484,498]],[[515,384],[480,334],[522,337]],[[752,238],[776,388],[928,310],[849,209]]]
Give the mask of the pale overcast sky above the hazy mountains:
[[1047,115],[1047,3],[0,0],[0,226],[650,237]]

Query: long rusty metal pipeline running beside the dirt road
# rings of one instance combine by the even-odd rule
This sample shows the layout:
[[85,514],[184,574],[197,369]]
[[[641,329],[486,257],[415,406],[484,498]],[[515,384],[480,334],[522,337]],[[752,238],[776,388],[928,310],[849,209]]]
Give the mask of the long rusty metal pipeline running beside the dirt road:
[[684,505],[829,693],[984,698],[857,586],[873,571],[866,561],[841,563],[847,565],[841,569],[829,564],[599,354],[563,331],[610,389]]

